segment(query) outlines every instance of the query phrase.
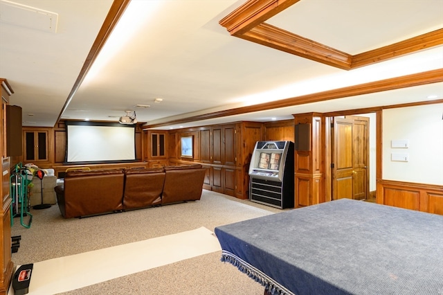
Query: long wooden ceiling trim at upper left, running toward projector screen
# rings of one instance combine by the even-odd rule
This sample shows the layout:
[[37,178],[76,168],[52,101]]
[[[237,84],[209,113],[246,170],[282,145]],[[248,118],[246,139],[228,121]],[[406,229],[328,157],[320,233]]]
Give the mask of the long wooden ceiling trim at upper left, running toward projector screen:
[[114,0],[112,3],[111,8],[109,9],[108,15],[103,22],[102,28],[100,28],[100,31],[98,32],[98,35],[96,37],[96,41],[92,44],[91,50],[89,51],[87,58],[82,66],[82,69],[80,70],[80,73],[78,74],[77,80],[75,80],[74,86],[71,89],[71,92],[68,95],[68,98],[66,98],[66,101],[64,102],[64,105],[62,107],[62,110],[60,111],[60,114],[58,115],[57,121],[55,123],[55,126],[57,126],[58,121],[62,118],[63,112],[66,110],[66,108],[69,105],[69,102],[71,102],[73,96],[80,88],[80,85],[83,82],[83,79],[86,77],[89,69],[91,68],[94,60],[96,60],[96,57],[102,50],[103,46],[105,46],[105,42],[107,41],[107,38],[109,35],[111,35],[112,30],[114,30],[114,27],[118,23],[118,20],[123,15],[123,12],[125,12],[127,6],[129,5],[129,2],[131,0]]

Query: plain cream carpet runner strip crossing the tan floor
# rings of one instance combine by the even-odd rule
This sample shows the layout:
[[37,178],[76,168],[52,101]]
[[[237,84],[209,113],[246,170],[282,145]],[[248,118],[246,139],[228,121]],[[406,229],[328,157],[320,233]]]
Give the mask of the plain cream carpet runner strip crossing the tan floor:
[[[215,251],[221,251],[221,248],[214,233],[200,227],[141,242],[36,262],[28,294],[68,292]],[[14,294],[12,286],[8,294]]]

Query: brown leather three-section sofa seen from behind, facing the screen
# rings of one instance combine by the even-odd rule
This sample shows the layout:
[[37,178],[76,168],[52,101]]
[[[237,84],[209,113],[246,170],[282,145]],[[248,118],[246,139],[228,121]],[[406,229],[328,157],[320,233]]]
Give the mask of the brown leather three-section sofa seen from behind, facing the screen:
[[65,218],[199,200],[201,165],[148,169],[69,171],[54,188]]

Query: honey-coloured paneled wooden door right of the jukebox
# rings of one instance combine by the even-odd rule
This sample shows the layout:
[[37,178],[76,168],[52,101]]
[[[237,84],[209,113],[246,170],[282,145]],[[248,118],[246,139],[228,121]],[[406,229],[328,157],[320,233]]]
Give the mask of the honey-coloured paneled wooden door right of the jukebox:
[[332,199],[368,197],[369,118],[335,118],[332,128]]

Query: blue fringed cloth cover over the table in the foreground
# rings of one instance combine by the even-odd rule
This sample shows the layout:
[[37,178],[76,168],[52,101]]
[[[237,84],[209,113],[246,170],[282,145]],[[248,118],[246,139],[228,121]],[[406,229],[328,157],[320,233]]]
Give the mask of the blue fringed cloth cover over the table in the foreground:
[[218,226],[271,294],[443,294],[443,216],[340,199]]

